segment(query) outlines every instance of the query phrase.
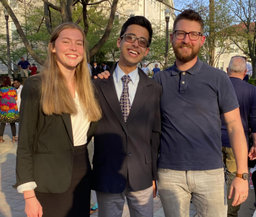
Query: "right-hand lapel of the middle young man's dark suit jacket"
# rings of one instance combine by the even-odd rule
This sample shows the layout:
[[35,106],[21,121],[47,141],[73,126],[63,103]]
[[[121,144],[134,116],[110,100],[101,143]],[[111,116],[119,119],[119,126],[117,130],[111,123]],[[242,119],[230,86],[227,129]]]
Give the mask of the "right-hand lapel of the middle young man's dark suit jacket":
[[131,111],[126,120],[126,124],[128,124],[131,121],[131,119],[137,114],[139,109],[147,101],[147,99],[149,98],[149,96],[152,94],[152,91],[153,91],[152,80],[147,78],[145,73],[140,68],[138,68],[138,74],[139,74],[138,87],[135,93]]

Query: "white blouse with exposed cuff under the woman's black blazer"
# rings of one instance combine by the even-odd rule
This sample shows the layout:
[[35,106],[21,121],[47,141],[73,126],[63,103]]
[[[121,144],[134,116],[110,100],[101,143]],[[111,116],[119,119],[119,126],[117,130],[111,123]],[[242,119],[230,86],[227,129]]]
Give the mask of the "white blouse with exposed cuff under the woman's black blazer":
[[[77,92],[75,93],[74,102],[77,107],[77,113],[71,115],[71,124],[73,132],[74,146],[82,146],[87,142],[87,131],[90,126],[88,117],[85,115],[83,108],[80,105]],[[29,182],[17,187],[19,193],[25,190],[33,190],[37,187],[36,182]]]

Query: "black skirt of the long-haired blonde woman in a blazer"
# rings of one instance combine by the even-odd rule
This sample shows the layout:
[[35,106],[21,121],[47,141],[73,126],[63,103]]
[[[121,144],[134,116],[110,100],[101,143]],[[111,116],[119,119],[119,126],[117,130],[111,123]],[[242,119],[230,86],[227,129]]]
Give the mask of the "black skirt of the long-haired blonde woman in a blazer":
[[87,144],[74,147],[71,184],[61,194],[35,191],[43,208],[43,217],[89,217],[91,166]]

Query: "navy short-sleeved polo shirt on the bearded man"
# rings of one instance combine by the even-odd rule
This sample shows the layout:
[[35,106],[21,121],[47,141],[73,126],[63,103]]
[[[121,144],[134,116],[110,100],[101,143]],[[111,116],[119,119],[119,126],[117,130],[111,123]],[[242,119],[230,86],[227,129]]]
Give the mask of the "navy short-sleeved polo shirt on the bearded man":
[[187,71],[174,64],[154,79],[162,85],[158,167],[181,171],[222,168],[220,116],[239,106],[225,71],[197,58]]

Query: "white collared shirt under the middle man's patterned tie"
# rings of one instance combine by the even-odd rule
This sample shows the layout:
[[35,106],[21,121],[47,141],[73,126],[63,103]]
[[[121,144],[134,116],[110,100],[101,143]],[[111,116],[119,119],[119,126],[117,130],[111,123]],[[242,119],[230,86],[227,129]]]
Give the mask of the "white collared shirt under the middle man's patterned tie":
[[[120,100],[121,94],[123,92],[123,81],[121,78],[126,75],[123,70],[117,65],[113,72],[113,79],[114,79],[114,86],[115,90],[117,91],[118,100]],[[134,71],[128,74],[131,78],[131,81],[128,84],[129,87],[129,99],[131,102],[131,105],[133,103],[135,93],[138,87],[138,81],[139,81],[139,75],[138,75],[138,68],[136,68]],[[121,109],[121,108],[120,108]]]

